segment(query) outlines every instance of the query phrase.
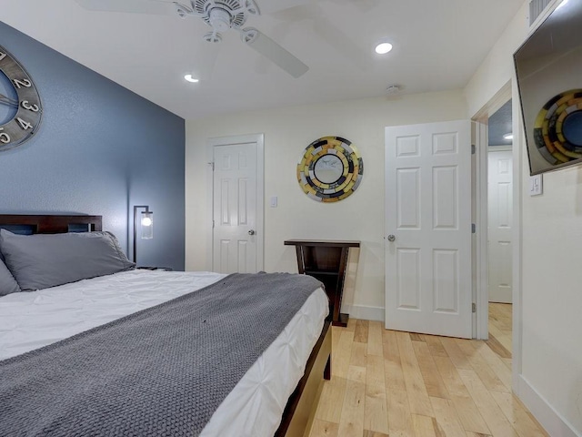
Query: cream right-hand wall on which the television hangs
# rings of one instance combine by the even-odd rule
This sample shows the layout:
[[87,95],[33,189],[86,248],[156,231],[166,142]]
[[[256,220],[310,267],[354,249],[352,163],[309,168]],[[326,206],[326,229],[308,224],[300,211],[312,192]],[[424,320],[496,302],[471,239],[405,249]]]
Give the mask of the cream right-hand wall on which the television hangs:
[[[513,53],[527,33],[526,2],[467,85],[470,114],[509,80],[518,101]],[[521,320],[514,325],[521,351],[514,353],[514,390],[550,435],[582,436],[582,167],[545,174],[544,194],[530,198],[517,106],[513,118],[514,197],[520,209],[515,219],[522,229],[517,235],[521,264],[514,278],[514,302],[520,308],[514,316]]]

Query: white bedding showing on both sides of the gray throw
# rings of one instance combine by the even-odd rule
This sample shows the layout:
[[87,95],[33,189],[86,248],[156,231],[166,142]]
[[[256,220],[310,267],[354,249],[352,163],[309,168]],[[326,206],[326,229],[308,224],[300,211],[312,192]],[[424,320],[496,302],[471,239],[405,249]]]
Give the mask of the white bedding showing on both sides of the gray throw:
[[[0,360],[210,285],[212,272],[132,270],[0,298]],[[303,376],[328,311],[317,289],[238,382],[200,434],[272,436]]]

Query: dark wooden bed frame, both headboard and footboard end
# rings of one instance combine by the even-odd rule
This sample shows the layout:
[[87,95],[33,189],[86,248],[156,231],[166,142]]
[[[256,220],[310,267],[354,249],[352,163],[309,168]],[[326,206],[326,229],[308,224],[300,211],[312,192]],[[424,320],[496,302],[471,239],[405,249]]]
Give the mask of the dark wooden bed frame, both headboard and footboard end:
[[[0,214],[0,228],[32,234],[55,234],[78,229],[102,230],[102,216]],[[331,329],[326,320],[306,363],[303,378],[287,401],[275,437],[308,435],[324,380],[331,378]]]

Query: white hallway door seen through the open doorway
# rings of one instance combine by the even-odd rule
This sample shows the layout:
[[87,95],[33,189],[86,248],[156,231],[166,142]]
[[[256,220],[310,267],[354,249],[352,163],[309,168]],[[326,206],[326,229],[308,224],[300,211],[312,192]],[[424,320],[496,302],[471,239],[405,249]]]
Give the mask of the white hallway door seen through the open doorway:
[[511,303],[513,222],[513,152],[488,152],[487,259],[490,302]]

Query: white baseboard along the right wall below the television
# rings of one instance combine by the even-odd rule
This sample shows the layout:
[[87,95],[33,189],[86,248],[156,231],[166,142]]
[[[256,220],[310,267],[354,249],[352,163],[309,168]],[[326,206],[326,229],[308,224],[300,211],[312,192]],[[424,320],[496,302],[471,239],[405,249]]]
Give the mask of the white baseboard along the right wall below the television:
[[560,437],[582,437],[582,433],[564,419],[523,375],[519,375],[519,399],[536,417],[549,435]]

